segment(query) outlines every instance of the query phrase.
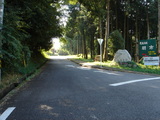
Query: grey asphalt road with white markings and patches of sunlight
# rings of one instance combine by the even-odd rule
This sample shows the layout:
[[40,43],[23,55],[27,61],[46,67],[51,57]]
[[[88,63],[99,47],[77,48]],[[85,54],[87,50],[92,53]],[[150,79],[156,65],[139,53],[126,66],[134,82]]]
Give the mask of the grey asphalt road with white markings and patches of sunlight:
[[1,120],[5,113],[7,120],[160,120],[160,77],[51,59],[1,106]]

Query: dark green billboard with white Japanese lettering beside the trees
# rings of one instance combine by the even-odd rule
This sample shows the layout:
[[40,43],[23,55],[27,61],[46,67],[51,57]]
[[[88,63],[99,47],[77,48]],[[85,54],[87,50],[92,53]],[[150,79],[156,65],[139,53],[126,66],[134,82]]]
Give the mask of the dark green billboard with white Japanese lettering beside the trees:
[[143,56],[157,56],[156,39],[140,40],[139,41],[139,55]]

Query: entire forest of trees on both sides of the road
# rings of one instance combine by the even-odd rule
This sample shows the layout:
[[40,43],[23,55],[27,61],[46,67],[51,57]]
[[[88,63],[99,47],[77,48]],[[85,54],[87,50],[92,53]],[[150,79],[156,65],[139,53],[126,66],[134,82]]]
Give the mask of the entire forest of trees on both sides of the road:
[[[5,0],[1,36],[2,77],[8,73],[26,74],[39,63],[41,52],[59,37],[63,50],[85,59],[99,54],[98,38],[103,42],[103,60],[111,60],[118,49],[126,49],[139,60],[138,41],[156,39],[160,0]],[[67,6],[66,14],[60,8]],[[60,24],[68,17],[66,26]],[[160,43],[157,44],[157,49]],[[159,49],[160,50],[160,49]]]

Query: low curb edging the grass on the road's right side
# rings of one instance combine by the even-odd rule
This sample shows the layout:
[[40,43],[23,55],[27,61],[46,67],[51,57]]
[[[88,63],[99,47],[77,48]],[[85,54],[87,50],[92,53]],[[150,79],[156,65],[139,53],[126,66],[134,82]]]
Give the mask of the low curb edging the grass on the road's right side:
[[83,61],[81,60],[75,60],[75,59],[69,59],[70,61],[83,66],[83,67],[90,67],[90,68],[97,68],[97,69],[103,69],[103,70],[110,70],[110,71],[119,71],[119,72],[127,72],[127,73],[134,73],[134,74],[143,74],[143,75],[154,75],[154,76],[160,76],[157,74],[151,74],[151,73],[144,73],[144,72],[137,72],[137,71],[131,71],[131,70],[125,70],[125,69],[119,69],[119,68],[111,68],[111,67],[101,67],[98,65],[85,65]]

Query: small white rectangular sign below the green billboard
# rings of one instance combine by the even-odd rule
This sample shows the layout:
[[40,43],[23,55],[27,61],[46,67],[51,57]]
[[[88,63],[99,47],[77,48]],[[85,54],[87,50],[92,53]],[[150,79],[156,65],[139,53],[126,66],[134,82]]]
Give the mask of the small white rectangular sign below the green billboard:
[[159,65],[159,57],[143,57],[144,65]]

